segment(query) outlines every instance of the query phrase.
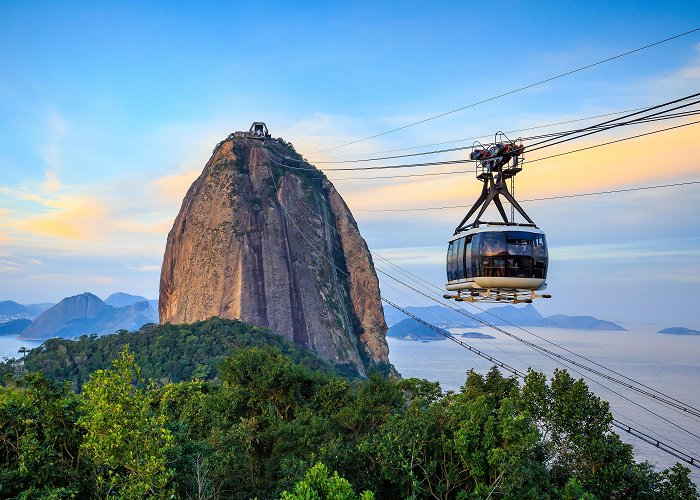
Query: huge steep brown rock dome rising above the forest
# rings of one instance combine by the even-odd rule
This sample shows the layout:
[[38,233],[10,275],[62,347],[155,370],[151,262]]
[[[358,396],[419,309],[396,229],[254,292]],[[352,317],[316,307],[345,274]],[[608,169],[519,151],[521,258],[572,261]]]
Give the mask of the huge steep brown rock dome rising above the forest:
[[301,159],[281,140],[229,137],[190,187],[163,258],[161,323],[240,319],[361,374],[388,371],[379,283],[350,210],[321,172],[268,147]]

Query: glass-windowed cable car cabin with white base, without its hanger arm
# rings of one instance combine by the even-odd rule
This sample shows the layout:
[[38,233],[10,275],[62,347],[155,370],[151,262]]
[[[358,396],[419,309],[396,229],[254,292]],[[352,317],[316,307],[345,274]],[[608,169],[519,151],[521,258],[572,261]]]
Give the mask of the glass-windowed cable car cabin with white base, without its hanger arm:
[[449,240],[446,288],[458,300],[531,302],[536,290],[547,287],[547,264],[541,229],[482,225]]

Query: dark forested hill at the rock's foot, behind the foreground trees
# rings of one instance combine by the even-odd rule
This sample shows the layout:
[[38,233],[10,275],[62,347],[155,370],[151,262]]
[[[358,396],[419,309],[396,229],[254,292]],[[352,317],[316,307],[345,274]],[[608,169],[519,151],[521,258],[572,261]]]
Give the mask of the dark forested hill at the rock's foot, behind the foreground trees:
[[[108,306],[109,307],[109,306]],[[128,345],[141,366],[145,380],[158,384],[213,379],[219,364],[245,347],[266,345],[279,349],[294,361],[315,370],[357,376],[352,366],[333,366],[267,328],[237,320],[211,318],[192,324],[145,325],[135,332],[112,335],[84,335],[76,340],[49,339],[24,357],[23,368],[41,371],[54,380],[68,380],[80,389],[95,370],[110,368]],[[0,381],[13,373],[14,360],[0,363]]]

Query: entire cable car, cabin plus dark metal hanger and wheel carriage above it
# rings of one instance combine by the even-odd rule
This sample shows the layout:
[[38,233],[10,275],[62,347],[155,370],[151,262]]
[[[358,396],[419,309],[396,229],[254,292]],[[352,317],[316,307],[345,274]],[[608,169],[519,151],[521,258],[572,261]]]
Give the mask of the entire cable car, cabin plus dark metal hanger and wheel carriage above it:
[[[448,241],[445,288],[451,293],[445,298],[517,304],[550,297],[536,293],[547,288],[545,233],[511,193],[515,175],[522,170],[522,154],[522,144],[509,141],[502,133],[488,147],[473,148],[470,158],[476,161],[476,177],[484,186]],[[501,197],[510,203],[510,220]],[[481,218],[491,202],[502,220],[484,222]],[[526,222],[516,223],[515,211]]]

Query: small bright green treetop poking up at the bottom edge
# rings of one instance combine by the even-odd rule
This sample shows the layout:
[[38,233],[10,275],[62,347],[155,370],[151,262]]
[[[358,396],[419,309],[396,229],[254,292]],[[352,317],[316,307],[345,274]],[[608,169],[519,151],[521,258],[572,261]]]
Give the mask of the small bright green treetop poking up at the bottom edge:
[[289,493],[282,492],[283,500],[373,500],[371,491],[363,491],[360,495],[355,493],[347,479],[333,472],[329,475],[328,467],[319,462],[314,465],[304,476],[302,481],[294,485],[294,490]]

